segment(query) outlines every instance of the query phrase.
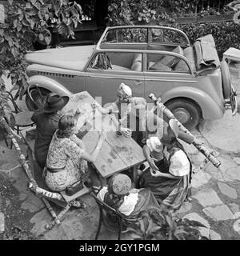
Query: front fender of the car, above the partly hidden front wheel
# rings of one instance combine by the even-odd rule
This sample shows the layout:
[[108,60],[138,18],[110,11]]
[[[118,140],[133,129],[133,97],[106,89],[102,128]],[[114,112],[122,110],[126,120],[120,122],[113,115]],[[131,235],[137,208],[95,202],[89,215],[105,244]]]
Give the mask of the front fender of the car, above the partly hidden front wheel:
[[42,75],[34,75],[29,78],[29,86],[38,85],[39,87],[50,90],[53,93],[59,94],[61,96],[71,96],[72,93],[62,86],[61,83],[55,81],[52,78],[47,78]]

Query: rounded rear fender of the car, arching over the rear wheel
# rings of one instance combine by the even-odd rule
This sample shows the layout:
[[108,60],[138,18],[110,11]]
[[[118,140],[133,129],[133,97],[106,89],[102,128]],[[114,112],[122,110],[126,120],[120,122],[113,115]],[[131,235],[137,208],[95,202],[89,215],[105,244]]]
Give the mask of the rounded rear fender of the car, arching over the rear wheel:
[[160,97],[163,103],[168,102],[173,98],[189,98],[198,103],[202,110],[202,118],[206,120],[222,118],[224,114],[224,108],[222,110],[208,94],[194,87],[176,87],[167,90]]

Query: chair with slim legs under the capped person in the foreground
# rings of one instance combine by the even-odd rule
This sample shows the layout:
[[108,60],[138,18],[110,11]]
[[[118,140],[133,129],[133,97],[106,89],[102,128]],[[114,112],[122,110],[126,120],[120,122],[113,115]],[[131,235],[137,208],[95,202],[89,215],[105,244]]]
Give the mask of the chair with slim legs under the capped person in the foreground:
[[102,202],[94,193],[91,193],[95,201],[98,204],[99,209],[99,222],[98,230],[95,236],[95,240],[98,240],[98,234],[101,230],[102,223],[106,226],[106,229],[118,232],[118,240],[121,240],[122,234],[126,233],[126,227],[131,224],[138,222],[140,218],[127,218],[126,215],[122,214],[118,210],[108,206],[105,202]]

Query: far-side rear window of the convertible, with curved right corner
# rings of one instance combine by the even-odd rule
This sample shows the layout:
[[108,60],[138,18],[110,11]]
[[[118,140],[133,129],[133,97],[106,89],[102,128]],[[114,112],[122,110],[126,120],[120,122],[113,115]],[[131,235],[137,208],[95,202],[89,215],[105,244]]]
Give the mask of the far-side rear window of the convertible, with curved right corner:
[[186,38],[182,33],[175,30],[163,30],[162,28],[153,28],[150,30],[151,43],[169,43],[186,45]]

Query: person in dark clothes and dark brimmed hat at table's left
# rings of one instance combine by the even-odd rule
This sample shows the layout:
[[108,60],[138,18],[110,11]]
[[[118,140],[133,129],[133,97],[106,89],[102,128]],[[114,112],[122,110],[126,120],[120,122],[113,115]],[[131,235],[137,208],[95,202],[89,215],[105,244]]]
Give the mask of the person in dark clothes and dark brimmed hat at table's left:
[[46,104],[41,113],[36,111],[32,115],[32,121],[36,124],[36,140],[34,144],[34,156],[38,166],[42,169],[46,164],[47,151],[54,132],[58,128],[60,110],[69,101],[68,96],[60,96],[50,93],[46,98]]

